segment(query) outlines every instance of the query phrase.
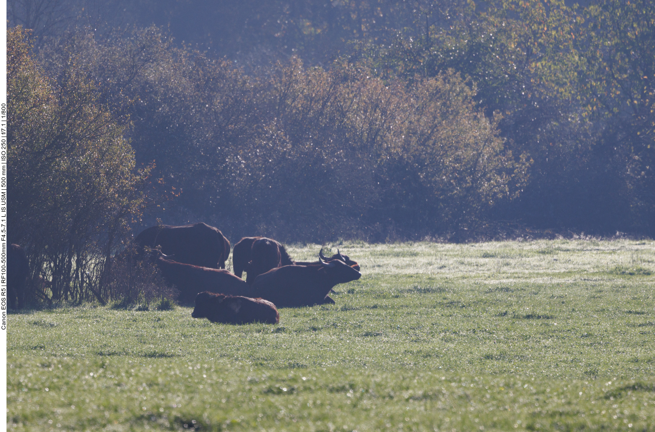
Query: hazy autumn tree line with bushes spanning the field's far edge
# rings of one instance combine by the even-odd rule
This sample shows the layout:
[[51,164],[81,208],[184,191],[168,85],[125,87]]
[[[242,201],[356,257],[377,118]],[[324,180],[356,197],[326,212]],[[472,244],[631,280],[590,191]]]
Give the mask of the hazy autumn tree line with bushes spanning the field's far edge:
[[10,241],[50,298],[107,297],[103,263],[157,217],[234,241],[653,235],[650,2],[252,3],[233,52],[88,15],[8,28]]

